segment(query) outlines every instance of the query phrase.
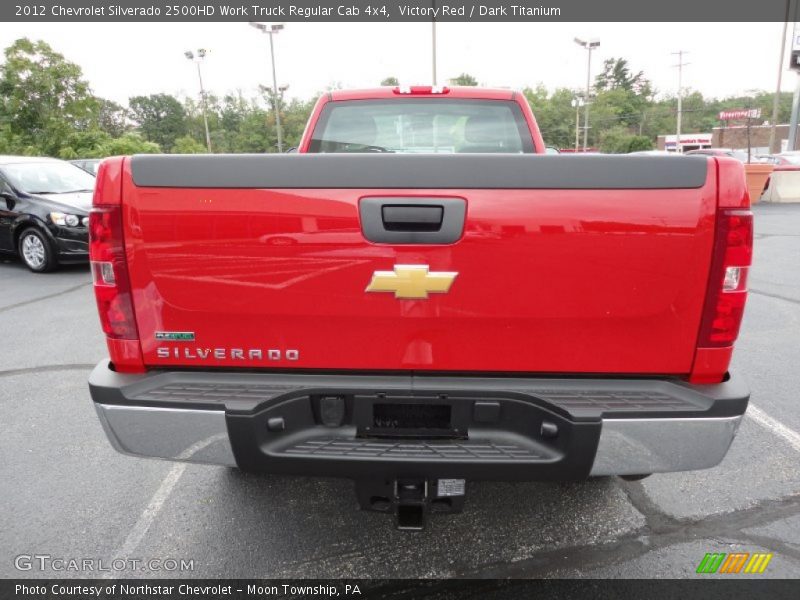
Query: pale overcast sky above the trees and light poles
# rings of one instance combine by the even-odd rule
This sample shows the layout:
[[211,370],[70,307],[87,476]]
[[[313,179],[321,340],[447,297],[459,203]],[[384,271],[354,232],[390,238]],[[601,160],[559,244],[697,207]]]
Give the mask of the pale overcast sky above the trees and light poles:
[[[773,91],[782,23],[439,23],[439,83],[462,72],[482,85],[549,89],[586,85],[586,51],[573,38],[600,39],[602,61],[623,57],[662,95],[677,90],[677,57],[688,51],[684,89],[724,97]],[[791,31],[789,32],[791,34]],[[78,63],[94,92],[126,103],[130,96],[197,96],[197,72],[185,57],[206,48],[206,89],[256,95],[271,85],[269,40],[247,23],[3,23],[0,48],[28,37],[48,42]],[[388,76],[431,83],[429,23],[286,23],[275,38],[278,84],[308,99],[329,86],[371,87]],[[782,61],[785,69],[787,60]],[[797,82],[783,72],[782,89]]]

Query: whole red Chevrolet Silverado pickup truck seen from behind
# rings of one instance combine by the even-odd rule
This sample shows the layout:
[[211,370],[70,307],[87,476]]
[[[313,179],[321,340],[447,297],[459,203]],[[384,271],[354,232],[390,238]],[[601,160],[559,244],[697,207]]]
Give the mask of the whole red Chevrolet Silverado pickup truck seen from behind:
[[109,159],[90,220],[126,454],[351,478],[418,528],[468,480],[712,467],[747,407],[741,164],[545,155],[511,91],[332,92],[297,154]]

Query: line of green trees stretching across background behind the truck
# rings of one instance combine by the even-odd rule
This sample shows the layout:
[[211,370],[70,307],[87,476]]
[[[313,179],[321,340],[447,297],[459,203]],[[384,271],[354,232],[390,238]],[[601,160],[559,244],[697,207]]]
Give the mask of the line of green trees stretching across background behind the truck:
[[[397,85],[387,77],[381,85]],[[451,85],[478,85],[462,73]],[[548,90],[544,85],[523,90],[548,145],[575,144],[575,90]],[[690,91],[683,98],[684,132],[710,131],[720,110],[761,108],[772,112],[773,94],[705,98]],[[787,122],[791,94],[780,96],[779,122]],[[675,97],[660,97],[641,71],[634,73],[622,58],[605,61],[590,91],[589,145],[604,152],[650,149],[656,136],[675,131]],[[254,97],[241,92],[206,94],[206,112],[213,152],[277,152],[272,91]],[[314,99],[279,99],[284,146],[300,140]],[[582,141],[582,130],[580,132]],[[206,151],[201,104],[195,98],[156,93],[134,96],[127,106],[95,95],[77,64],[44,41],[22,38],[4,50],[0,64],[0,154],[93,158],[135,153],[200,153]]]

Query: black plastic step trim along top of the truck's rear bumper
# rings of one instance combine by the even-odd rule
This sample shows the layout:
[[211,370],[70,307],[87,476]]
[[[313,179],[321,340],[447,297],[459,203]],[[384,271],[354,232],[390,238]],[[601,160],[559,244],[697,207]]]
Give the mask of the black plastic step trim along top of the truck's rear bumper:
[[92,372],[96,402],[162,408],[216,408],[227,414],[254,414],[264,406],[295,397],[336,394],[460,394],[520,399],[573,421],[600,418],[730,417],[744,414],[750,392],[741,377],[692,385],[676,379],[554,379],[373,374],[286,374],[219,371],[116,373],[108,361]]

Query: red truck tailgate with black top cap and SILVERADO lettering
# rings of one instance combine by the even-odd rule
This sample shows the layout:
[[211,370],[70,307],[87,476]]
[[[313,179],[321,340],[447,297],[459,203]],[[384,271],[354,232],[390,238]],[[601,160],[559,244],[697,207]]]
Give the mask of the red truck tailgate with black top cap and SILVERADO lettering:
[[[713,160],[137,156],[122,194],[149,366],[692,367],[714,241]],[[462,201],[463,234],[368,241],[368,198]],[[425,266],[450,274],[446,292],[432,279],[427,298],[366,291],[376,272]]]

